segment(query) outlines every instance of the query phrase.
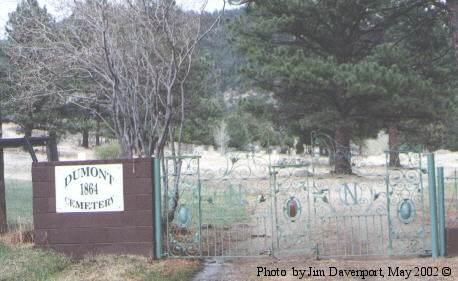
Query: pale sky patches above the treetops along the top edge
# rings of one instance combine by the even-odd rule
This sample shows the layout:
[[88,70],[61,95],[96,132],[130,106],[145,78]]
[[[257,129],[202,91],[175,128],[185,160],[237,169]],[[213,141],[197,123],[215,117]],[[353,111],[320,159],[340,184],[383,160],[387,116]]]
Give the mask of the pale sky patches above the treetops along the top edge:
[[[16,9],[20,0],[0,0],[0,37],[5,34],[5,24],[8,21],[8,14]],[[204,0],[177,0],[177,3],[187,9],[200,9]],[[62,15],[62,9],[59,8],[59,0],[38,0],[42,6],[46,5],[48,11],[55,15]],[[219,10],[223,7],[223,0],[208,0],[205,9],[209,12]]]

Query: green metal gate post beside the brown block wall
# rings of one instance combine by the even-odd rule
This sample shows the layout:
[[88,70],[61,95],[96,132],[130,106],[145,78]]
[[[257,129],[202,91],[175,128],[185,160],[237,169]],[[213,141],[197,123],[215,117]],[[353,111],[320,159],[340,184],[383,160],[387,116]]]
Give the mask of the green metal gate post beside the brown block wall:
[[153,172],[154,172],[154,238],[156,242],[156,259],[162,257],[162,225],[161,225],[161,161],[154,158]]

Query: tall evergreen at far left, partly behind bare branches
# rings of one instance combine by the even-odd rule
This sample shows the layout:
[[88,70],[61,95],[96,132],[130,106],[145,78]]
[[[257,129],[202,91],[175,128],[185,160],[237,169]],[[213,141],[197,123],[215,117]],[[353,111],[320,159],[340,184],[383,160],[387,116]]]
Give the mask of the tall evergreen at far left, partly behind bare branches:
[[6,26],[5,46],[11,71],[8,75],[11,86],[11,105],[14,121],[21,125],[25,135],[30,136],[35,128],[48,129],[58,120],[55,97],[49,94],[50,83],[59,72],[52,69],[54,59],[44,32],[55,27],[46,7],[37,0],[22,0],[16,11],[9,15]]

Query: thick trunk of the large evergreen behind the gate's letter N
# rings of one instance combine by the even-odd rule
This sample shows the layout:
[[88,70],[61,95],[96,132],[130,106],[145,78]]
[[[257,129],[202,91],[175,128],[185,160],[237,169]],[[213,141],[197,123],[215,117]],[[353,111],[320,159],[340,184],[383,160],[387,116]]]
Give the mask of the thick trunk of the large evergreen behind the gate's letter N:
[[345,127],[339,126],[334,138],[336,143],[334,173],[351,174],[350,134]]

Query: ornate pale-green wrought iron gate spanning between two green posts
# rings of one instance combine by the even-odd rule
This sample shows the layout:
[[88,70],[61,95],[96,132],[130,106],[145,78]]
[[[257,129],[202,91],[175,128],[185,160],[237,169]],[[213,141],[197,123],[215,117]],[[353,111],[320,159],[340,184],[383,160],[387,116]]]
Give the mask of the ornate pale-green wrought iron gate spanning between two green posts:
[[233,153],[224,163],[165,158],[164,252],[169,257],[425,254],[421,155],[399,153],[400,165],[393,167],[352,157],[353,176],[330,174],[316,157]]

